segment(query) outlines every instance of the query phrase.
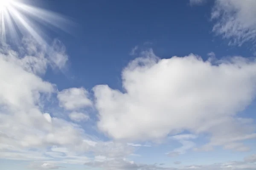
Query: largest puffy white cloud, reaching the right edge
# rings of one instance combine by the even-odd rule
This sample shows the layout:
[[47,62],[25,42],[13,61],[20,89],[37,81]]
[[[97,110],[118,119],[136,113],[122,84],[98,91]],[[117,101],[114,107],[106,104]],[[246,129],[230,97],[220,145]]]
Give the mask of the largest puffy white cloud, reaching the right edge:
[[256,96],[256,62],[214,62],[190,54],[158,59],[152,51],[122,72],[125,93],[94,87],[98,127],[114,139],[164,138],[183,130],[212,135],[210,145],[254,138],[250,119],[236,118]]

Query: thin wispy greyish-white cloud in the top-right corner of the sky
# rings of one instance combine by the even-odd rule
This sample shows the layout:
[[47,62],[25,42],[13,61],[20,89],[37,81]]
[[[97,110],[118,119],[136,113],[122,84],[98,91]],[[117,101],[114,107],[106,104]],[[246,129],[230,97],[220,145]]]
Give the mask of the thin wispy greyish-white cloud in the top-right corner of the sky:
[[216,21],[213,31],[241,45],[256,38],[255,0],[215,0],[212,19]]

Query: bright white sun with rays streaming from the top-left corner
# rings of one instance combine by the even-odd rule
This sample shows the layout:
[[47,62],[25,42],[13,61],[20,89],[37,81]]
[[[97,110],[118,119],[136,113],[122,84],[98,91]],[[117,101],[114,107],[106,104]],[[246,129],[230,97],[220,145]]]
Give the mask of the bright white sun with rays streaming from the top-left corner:
[[[35,22],[36,21],[36,22]],[[0,0],[0,42],[17,42],[19,35],[29,34],[42,43],[44,38],[38,23],[69,31],[73,24],[60,14],[31,6],[23,0]]]

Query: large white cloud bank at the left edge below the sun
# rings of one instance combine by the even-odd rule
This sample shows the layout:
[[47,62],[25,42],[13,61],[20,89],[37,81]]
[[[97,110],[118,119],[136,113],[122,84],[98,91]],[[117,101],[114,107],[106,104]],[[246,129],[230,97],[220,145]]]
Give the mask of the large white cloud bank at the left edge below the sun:
[[11,49],[0,54],[0,150],[5,159],[47,160],[44,152],[49,146],[83,144],[84,132],[78,125],[43,112],[43,96],[56,90],[37,74],[44,72],[45,63],[29,62],[46,60],[49,65],[49,56],[38,51],[44,47],[32,42],[26,40],[29,50],[24,48],[24,55]]

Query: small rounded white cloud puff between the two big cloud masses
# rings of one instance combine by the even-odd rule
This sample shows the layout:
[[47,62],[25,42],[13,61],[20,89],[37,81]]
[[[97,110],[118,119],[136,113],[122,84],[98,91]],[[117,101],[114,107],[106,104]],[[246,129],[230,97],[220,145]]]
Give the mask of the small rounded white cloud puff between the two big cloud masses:
[[69,88],[58,92],[60,106],[67,110],[77,110],[92,106],[92,101],[88,98],[88,92],[84,88]]

